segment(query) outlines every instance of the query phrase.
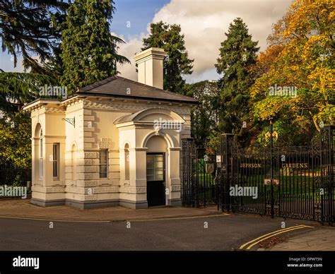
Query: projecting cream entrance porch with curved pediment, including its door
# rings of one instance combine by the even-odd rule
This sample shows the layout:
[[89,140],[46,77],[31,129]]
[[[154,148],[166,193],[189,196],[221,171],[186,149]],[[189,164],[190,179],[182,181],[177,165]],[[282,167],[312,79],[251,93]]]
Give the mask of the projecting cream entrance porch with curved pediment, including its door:
[[[153,108],[128,114],[114,121],[119,130],[119,150],[129,144],[129,182],[120,197],[135,208],[180,205],[180,140],[184,119],[169,109]],[[120,177],[124,179],[120,155]],[[123,202],[122,202],[123,203]]]

